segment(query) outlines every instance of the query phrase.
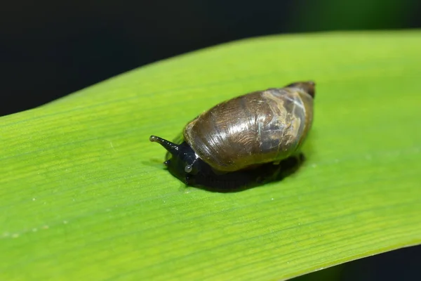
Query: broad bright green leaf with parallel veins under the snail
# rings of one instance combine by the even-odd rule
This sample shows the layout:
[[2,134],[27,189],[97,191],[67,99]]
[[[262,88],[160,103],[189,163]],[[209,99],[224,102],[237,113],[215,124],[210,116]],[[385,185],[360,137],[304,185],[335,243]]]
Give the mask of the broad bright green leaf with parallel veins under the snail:
[[[420,31],[249,39],[1,117],[0,280],[283,280],[420,244],[420,50]],[[185,188],[149,143],[303,79],[314,127],[283,181]]]

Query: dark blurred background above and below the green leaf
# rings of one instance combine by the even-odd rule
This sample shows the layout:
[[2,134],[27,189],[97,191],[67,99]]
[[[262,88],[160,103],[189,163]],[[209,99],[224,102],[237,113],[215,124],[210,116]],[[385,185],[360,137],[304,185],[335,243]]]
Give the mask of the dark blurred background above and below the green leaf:
[[[419,0],[2,1],[0,116],[236,39],[414,27]],[[340,279],[420,280],[420,266],[413,247],[347,263]]]

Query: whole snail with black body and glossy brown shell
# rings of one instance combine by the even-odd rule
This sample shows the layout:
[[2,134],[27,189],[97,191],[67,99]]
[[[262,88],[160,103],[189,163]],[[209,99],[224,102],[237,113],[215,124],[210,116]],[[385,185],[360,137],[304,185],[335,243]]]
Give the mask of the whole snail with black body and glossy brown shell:
[[189,185],[260,181],[300,155],[312,127],[314,86],[303,81],[238,96],[189,122],[180,144],[149,140],[168,150],[164,163]]

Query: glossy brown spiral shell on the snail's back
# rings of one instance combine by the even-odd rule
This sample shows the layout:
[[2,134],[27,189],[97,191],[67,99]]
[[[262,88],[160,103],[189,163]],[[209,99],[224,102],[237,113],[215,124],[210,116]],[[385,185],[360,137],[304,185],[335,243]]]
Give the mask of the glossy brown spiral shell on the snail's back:
[[203,112],[184,130],[194,152],[218,171],[293,155],[312,125],[313,98],[303,89],[256,91]]

